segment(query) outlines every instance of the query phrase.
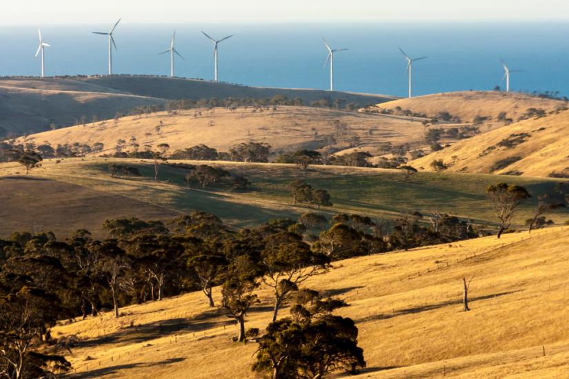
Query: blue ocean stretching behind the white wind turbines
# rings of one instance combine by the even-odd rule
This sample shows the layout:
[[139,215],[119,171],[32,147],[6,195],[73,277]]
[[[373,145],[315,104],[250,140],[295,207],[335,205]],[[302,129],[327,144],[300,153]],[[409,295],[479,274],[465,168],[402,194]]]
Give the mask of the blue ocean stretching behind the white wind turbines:
[[[117,17],[118,19],[118,17]],[[106,37],[116,19],[98,25],[42,25],[46,75],[104,74]],[[118,51],[115,74],[170,73],[170,47],[177,31],[176,75],[212,79],[215,39],[219,45],[219,79],[228,83],[282,88],[327,89],[325,37],[335,55],[337,90],[406,95],[406,61],[414,65],[414,94],[457,90],[490,90],[501,85],[502,58],[512,70],[516,91],[559,91],[569,95],[569,23],[383,23],[383,24],[207,24],[141,25],[123,19],[114,32]],[[0,75],[35,76],[37,26],[0,28]]]

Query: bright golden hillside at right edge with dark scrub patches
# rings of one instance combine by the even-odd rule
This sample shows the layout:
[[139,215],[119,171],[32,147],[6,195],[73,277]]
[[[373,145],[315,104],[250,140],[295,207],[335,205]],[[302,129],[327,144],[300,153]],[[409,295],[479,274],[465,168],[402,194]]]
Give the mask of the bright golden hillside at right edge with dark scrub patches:
[[559,112],[460,141],[412,165],[432,170],[430,163],[442,159],[451,171],[569,177],[568,130],[569,111]]

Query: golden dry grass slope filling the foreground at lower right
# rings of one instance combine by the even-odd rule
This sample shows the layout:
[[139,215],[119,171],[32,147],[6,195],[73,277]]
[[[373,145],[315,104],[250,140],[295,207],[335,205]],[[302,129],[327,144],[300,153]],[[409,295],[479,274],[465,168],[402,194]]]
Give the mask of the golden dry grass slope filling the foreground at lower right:
[[[345,299],[359,327],[366,378],[563,378],[569,372],[569,229],[508,234],[335,263],[306,287]],[[462,278],[472,278],[469,312]],[[219,301],[219,291],[214,292]],[[247,327],[264,329],[266,287]],[[254,378],[257,344],[231,342],[236,326],[201,293],[124,307],[74,322],[67,358],[76,378]],[[288,310],[282,311],[286,316]],[[543,347],[546,356],[543,356]]]

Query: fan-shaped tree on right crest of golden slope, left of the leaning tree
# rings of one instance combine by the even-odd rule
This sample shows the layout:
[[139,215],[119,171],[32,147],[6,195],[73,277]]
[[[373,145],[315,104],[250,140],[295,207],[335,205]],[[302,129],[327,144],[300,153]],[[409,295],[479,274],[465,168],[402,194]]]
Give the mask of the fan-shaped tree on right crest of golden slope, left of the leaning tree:
[[519,185],[508,185],[507,183],[490,185],[486,192],[488,192],[492,208],[500,221],[496,235],[497,238],[500,238],[503,231],[512,225],[512,217],[519,210],[520,205],[532,196],[526,188]]

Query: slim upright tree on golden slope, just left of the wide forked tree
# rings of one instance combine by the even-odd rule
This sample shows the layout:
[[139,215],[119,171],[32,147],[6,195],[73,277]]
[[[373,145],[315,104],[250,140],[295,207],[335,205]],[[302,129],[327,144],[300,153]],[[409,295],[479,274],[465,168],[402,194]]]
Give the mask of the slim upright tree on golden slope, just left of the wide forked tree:
[[228,317],[234,318],[239,326],[237,341],[245,340],[245,316],[252,305],[259,303],[253,293],[259,283],[256,263],[249,256],[237,256],[226,273],[221,287],[221,307],[226,309]]

